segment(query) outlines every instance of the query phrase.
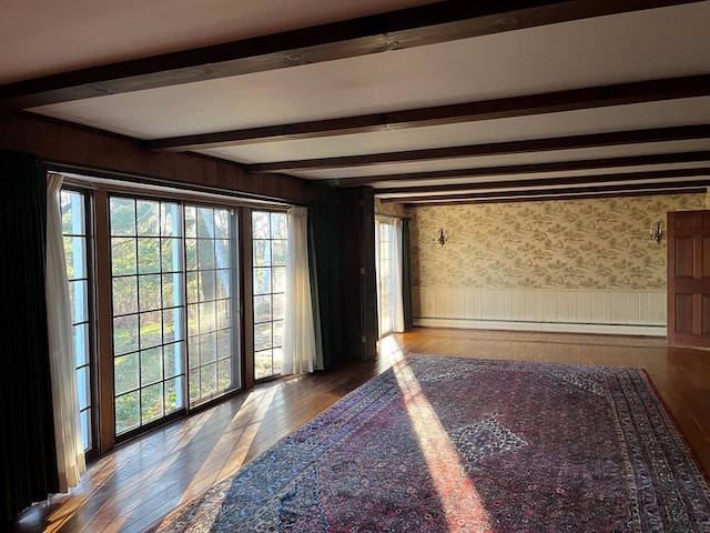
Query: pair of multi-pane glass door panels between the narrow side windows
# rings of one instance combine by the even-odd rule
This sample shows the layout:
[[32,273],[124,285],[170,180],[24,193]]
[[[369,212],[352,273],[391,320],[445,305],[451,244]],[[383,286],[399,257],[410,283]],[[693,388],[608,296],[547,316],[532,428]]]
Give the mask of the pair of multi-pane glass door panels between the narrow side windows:
[[229,209],[110,198],[116,436],[240,386]]

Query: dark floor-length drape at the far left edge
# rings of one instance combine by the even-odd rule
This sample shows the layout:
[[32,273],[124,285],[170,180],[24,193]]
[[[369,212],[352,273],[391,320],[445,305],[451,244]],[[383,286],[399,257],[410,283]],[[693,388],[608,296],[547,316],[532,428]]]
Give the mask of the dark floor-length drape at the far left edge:
[[11,521],[58,492],[44,300],[47,172],[0,150],[0,509]]

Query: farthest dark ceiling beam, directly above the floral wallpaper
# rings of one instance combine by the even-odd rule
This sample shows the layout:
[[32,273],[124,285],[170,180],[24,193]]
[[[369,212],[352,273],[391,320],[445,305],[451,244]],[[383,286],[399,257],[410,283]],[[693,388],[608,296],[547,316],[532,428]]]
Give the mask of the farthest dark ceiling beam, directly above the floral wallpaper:
[[665,190],[669,194],[678,193],[678,190],[682,189],[697,189],[698,191],[706,191],[707,185],[710,184],[710,179],[704,181],[678,181],[678,182],[658,182],[658,183],[619,183],[613,185],[595,185],[595,187],[570,187],[560,189],[540,188],[540,189],[525,189],[515,191],[484,191],[484,192],[466,192],[458,194],[440,194],[436,197],[393,197],[383,198],[383,202],[397,202],[397,203],[432,203],[432,202],[445,202],[445,201],[470,201],[477,199],[493,199],[493,198],[539,198],[551,195],[568,195],[575,197],[576,194],[599,194],[599,193],[616,193],[616,192],[630,192],[630,191],[657,191]]

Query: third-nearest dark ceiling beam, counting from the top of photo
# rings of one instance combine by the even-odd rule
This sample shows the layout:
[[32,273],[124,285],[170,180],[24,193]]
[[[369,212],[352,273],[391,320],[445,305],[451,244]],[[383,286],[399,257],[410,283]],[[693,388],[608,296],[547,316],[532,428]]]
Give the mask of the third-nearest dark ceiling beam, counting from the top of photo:
[[246,165],[253,173],[290,172],[304,170],[343,169],[347,167],[369,167],[383,163],[429,161],[435,159],[476,158],[481,155],[509,155],[540,151],[569,150],[576,148],[599,148],[616,144],[638,144],[678,140],[710,138],[710,124],[679,125],[648,130],[615,131],[586,135],[529,139],[524,141],[494,142],[466,147],[434,148],[405,152],[344,155],[337,158],[307,159],[300,161],[277,161]]

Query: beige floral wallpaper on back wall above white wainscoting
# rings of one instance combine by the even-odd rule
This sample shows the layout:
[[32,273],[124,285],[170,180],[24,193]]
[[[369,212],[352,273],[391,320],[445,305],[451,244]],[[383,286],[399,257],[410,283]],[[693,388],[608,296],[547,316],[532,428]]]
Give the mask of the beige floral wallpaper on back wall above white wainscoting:
[[413,285],[665,290],[650,228],[704,208],[704,194],[410,208]]

